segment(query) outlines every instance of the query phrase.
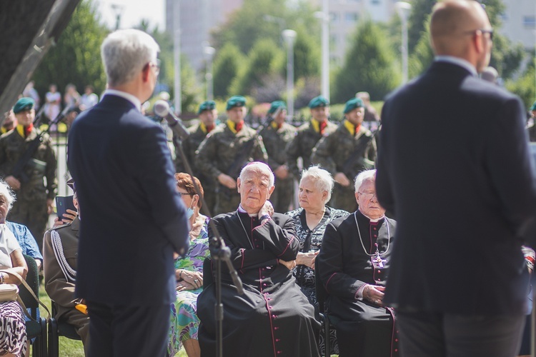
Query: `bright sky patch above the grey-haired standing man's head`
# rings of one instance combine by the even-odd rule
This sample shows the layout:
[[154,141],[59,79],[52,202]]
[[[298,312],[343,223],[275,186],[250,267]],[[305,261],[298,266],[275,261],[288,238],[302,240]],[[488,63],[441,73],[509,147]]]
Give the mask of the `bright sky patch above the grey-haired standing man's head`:
[[160,30],[166,27],[164,16],[165,0],[94,0],[101,14],[101,19],[109,26],[110,29],[115,29],[116,14],[121,8],[121,29],[128,29],[137,26],[142,19],[149,21],[150,28],[158,25]]

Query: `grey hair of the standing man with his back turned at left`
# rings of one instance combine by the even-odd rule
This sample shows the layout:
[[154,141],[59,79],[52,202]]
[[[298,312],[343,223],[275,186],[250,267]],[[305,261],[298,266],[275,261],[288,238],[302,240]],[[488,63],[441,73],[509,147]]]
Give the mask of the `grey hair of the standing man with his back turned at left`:
[[157,60],[160,47],[144,31],[114,31],[104,39],[101,57],[109,86],[128,83],[150,61]]

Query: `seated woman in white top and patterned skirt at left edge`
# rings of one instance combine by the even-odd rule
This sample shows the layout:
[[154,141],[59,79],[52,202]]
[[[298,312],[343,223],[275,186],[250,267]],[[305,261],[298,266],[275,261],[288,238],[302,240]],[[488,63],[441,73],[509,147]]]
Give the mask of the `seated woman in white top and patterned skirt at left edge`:
[[[4,181],[0,181],[0,269],[4,270],[0,273],[0,284],[19,284],[19,278],[9,272],[18,273],[22,278],[26,278],[28,272],[21,247],[6,226],[6,216],[14,201],[15,194],[11,188]],[[19,303],[0,303],[1,356],[26,356],[28,339],[24,321],[24,312]]]

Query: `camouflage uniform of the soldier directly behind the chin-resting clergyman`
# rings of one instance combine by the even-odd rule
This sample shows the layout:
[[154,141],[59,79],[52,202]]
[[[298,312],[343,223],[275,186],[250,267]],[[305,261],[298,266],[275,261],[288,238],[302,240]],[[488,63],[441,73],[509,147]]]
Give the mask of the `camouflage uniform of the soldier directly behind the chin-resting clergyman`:
[[[235,211],[240,203],[238,190],[236,188],[229,189],[219,184],[219,174],[227,174],[236,179],[242,167],[248,162],[267,162],[268,158],[264,144],[262,144],[262,138],[255,139],[255,136],[256,131],[246,124],[237,134],[234,134],[227,124],[223,124],[211,131],[199,145],[197,150],[197,169],[218,183],[214,216],[219,213]],[[253,140],[254,145],[249,153],[243,153],[242,149],[249,140]],[[240,156],[244,156],[244,159],[241,163],[234,165],[237,157]],[[235,167],[232,168],[231,166]],[[233,169],[234,172],[229,172],[230,169]]]

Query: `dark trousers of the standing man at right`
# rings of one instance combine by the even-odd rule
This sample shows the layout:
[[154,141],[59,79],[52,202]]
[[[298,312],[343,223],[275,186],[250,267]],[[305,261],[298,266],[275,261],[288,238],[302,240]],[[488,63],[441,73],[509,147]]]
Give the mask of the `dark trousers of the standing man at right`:
[[400,351],[411,357],[517,356],[525,316],[397,310]]

